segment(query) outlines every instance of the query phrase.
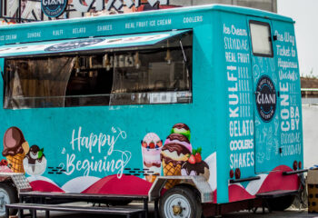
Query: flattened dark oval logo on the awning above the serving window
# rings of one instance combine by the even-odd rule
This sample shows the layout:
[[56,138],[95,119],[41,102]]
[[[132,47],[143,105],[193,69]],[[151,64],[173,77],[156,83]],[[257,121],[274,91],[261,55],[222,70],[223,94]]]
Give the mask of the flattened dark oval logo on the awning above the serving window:
[[67,51],[72,50],[75,48],[81,48],[88,45],[94,45],[103,42],[104,39],[100,38],[90,38],[90,39],[82,39],[82,40],[76,40],[66,43],[60,43],[56,45],[49,46],[45,48],[46,52],[60,52],[60,51]]

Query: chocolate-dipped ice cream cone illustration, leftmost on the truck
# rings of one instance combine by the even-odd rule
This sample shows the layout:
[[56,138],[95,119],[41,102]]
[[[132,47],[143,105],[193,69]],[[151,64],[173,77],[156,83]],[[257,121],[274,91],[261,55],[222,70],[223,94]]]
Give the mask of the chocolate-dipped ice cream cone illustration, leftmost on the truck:
[[22,131],[15,126],[8,128],[5,131],[2,155],[14,173],[25,173],[23,160],[28,151],[29,144],[25,141]]

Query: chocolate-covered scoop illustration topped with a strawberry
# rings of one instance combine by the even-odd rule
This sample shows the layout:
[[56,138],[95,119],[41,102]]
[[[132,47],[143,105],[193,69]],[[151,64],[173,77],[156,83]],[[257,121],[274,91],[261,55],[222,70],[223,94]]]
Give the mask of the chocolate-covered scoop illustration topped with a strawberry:
[[202,160],[201,148],[194,149],[187,162],[181,167],[182,175],[203,175],[206,180],[209,180],[210,170],[207,163]]

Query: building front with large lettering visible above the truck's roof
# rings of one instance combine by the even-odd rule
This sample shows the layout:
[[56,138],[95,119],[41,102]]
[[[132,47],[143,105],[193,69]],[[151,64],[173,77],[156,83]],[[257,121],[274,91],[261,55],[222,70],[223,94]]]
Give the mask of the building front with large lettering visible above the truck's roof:
[[[224,4],[224,5],[241,5],[247,7],[258,8],[266,11],[277,12],[277,0],[170,0],[169,5],[156,4],[151,6],[147,0],[141,0],[138,8],[128,8],[123,6],[118,10],[112,7],[112,10],[96,10],[96,2],[92,0],[65,0],[68,1],[65,13],[57,18],[49,18],[41,10],[41,0],[0,0],[0,22],[1,24],[24,23],[50,19],[67,19],[73,17],[82,17],[87,15],[109,15],[117,13],[132,13],[143,10],[165,9],[170,7],[191,6],[191,5],[208,5],[208,4]],[[102,0],[103,1],[103,0]],[[121,1],[123,4],[129,2],[127,0],[104,0],[105,5],[108,2],[117,3]],[[87,12],[78,11],[75,2],[86,7]],[[159,2],[159,1],[158,1]],[[164,2],[164,1],[163,1]],[[93,3],[93,4],[92,4]],[[92,4],[92,5],[90,5]]]

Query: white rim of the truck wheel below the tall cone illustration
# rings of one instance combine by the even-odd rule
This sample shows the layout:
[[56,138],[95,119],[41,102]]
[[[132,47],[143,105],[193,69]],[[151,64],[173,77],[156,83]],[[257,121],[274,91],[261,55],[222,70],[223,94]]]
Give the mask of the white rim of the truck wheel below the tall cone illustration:
[[173,194],[167,197],[164,202],[164,215],[167,218],[190,218],[191,206],[188,199],[181,194]]

